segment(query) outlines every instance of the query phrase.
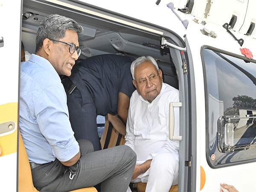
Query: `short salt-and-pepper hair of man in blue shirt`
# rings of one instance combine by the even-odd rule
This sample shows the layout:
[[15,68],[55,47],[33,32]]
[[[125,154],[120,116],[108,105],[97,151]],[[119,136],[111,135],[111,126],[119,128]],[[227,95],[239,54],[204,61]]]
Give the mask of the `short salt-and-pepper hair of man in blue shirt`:
[[78,35],[83,32],[83,28],[75,20],[68,17],[54,14],[44,18],[35,38],[35,52],[38,52],[43,46],[44,39],[59,40],[65,37],[67,30],[75,31]]

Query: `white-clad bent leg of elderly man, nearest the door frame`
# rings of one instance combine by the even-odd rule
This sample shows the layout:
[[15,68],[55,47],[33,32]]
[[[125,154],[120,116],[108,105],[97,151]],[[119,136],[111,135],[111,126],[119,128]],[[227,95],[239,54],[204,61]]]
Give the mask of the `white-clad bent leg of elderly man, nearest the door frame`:
[[179,162],[171,153],[158,154],[149,168],[146,192],[169,192],[178,183]]

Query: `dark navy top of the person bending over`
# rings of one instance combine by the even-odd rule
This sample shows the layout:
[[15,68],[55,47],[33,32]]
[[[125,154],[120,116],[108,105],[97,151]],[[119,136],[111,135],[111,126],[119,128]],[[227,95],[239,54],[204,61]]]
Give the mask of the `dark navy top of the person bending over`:
[[111,54],[90,57],[73,66],[70,79],[83,101],[90,100],[99,115],[116,114],[118,93],[131,97],[135,90],[130,71],[133,60]]

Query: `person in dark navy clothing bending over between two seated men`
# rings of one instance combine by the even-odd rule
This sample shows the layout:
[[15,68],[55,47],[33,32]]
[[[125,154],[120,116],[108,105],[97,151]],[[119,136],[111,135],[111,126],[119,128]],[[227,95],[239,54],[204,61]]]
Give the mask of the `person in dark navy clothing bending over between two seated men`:
[[[75,137],[90,140],[95,151],[101,149],[98,115],[108,115],[110,121],[122,119],[124,125],[127,121],[130,97],[135,90],[130,72],[134,59],[113,54],[93,56],[74,65],[71,76],[62,80]],[[117,131],[125,135],[125,126]]]

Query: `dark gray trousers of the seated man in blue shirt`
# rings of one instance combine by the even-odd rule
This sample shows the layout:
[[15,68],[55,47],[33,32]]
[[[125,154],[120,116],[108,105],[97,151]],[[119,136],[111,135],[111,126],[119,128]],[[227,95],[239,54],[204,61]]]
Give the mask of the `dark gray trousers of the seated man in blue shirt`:
[[58,160],[32,169],[33,183],[41,192],[66,192],[101,183],[102,192],[126,192],[136,163],[126,145],[93,152],[87,140],[78,140],[81,157],[70,167]]

